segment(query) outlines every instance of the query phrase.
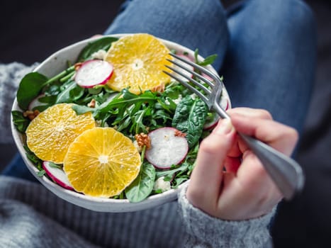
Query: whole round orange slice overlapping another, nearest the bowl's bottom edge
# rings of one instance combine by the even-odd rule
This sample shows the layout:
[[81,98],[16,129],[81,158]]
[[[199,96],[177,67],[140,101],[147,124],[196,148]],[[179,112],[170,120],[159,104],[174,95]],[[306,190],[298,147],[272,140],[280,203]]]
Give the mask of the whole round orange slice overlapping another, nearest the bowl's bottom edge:
[[92,128],[70,145],[63,169],[70,184],[88,196],[116,196],[138,176],[140,154],[113,128]]

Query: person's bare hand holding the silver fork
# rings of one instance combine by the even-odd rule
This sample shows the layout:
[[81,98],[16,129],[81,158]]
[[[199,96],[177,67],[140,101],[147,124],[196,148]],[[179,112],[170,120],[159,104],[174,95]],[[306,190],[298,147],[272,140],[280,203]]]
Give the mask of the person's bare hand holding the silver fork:
[[288,156],[293,152],[298,133],[275,122],[261,109],[233,108],[228,113],[232,121],[220,120],[211,135],[201,142],[186,197],[196,208],[216,218],[257,218],[269,213],[283,196],[235,130]]

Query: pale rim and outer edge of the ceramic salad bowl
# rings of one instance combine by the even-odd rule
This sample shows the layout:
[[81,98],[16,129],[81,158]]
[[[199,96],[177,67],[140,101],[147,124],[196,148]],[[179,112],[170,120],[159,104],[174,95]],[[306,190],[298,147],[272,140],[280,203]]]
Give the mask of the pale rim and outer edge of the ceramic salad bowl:
[[[133,33],[118,33],[118,34],[111,34],[111,35],[103,35],[103,37],[115,37],[120,38],[125,35],[132,35]],[[68,50],[73,50],[76,47],[82,48],[87,45],[89,42],[97,40],[101,37],[92,37],[87,38],[84,40],[80,40],[77,43],[73,43],[71,45],[68,45],[66,47],[63,47],[60,50],[57,50],[57,52],[52,53],[49,57],[47,57],[43,62],[41,62],[35,69],[33,69],[33,72],[40,72],[40,70],[45,67],[46,64],[50,63],[52,60],[57,60],[60,55],[62,55],[64,52],[67,52]],[[164,45],[166,45],[169,50],[175,49],[176,51],[185,51],[188,52],[190,56],[194,55],[193,50],[189,49],[188,47],[185,47],[183,45],[179,45],[178,43],[174,43],[170,40],[164,40],[162,38],[157,38],[160,40]],[[82,50],[82,48],[80,50]],[[79,50],[79,51],[80,51]],[[79,53],[78,51],[78,53]],[[77,53],[77,56],[78,56]],[[198,58],[200,60],[203,60],[203,57],[198,55]],[[207,66],[208,69],[211,69],[212,72],[215,74],[218,74],[215,69],[211,66]],[[46,75],[47,77],[52,77],[53,75]],[[228,98],[228,103],[230,106],[230,97],[228,96],[228,91],[224,89],[225,97]],[[13,105],[11,108],[11,111],[21,111],[21,108],[18,106],[17,98],[15,97],[13,101]],[[144,210],[147,208],[152,208],[157,205],[162,205],[163,203],[167,203],[169,201],[174,201],[177,198],[177,194],[179,191],[181,191],[182,188],[184,188],[187,184],[189,184],[189,181],[185,181],[183,184],[180,184],[177,188],[172,188],[168,191],[164,191],[163,193],[158,193],[152,196],[148,196],[145,200],[140,201],[138,203],[130,203],[128,199],[113,199],[113,198],[99,198],[99,197],[93,197],[93,196],[86,196],[83,193],[79,193],[77,191],[72,191],[66,188],[63,188],[62,186],[56,184],[52,180],[48,179],[47,176],[38,176],[38,169],[35,167],[35,165],[30,162],[30,160],[26,156],[26,150],[24,149],[23,145],[25,145],[25,138],[24,135],[21,134],[18,130],[16,130],[15,125],[13,124],[13,117],[11,115],[11,133],[13,135],[13,140],[16,144],[16,147],[18,149],[18,152],[21,154],[21,157],[23,158],[24,163],[26,164],[26,167],[28,167],[28,170],[30,171],[33,176],[35,176],[38,181],[40,181],[43,186],[48,188],[50,191],[55,193],[60,198],[69,201],[70,203],[73,203],[75,205],[79,205],[83,208],[88,208],[90,210],[96,210],[101,212],[111,212],[111,213],[120,213],[120,212],[131,212],[135,210]],[[106,205],[105,205],[106,203]]]

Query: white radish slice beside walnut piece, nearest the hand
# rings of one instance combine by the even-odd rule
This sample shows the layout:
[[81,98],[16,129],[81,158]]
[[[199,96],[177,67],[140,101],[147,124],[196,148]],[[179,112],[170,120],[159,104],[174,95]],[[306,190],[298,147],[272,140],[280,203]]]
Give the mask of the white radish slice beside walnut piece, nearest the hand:
[[[158,128],[148,134],[150,149],[145,153],[146,159],[159,169],[169,169],[185,159],[189,145],[185,137],[176,136],[176,128]],[[180,132],[179,132],[180,133]]]

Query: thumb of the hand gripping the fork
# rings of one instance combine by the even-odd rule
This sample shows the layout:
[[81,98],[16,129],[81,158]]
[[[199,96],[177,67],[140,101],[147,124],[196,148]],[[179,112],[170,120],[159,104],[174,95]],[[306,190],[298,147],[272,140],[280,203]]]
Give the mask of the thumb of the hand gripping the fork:
[[220,195],[223,164],[235,142],[235,129],[229,119],[219,120],[213,132],[199,147],[186,197],[207,213],[217,207]]

